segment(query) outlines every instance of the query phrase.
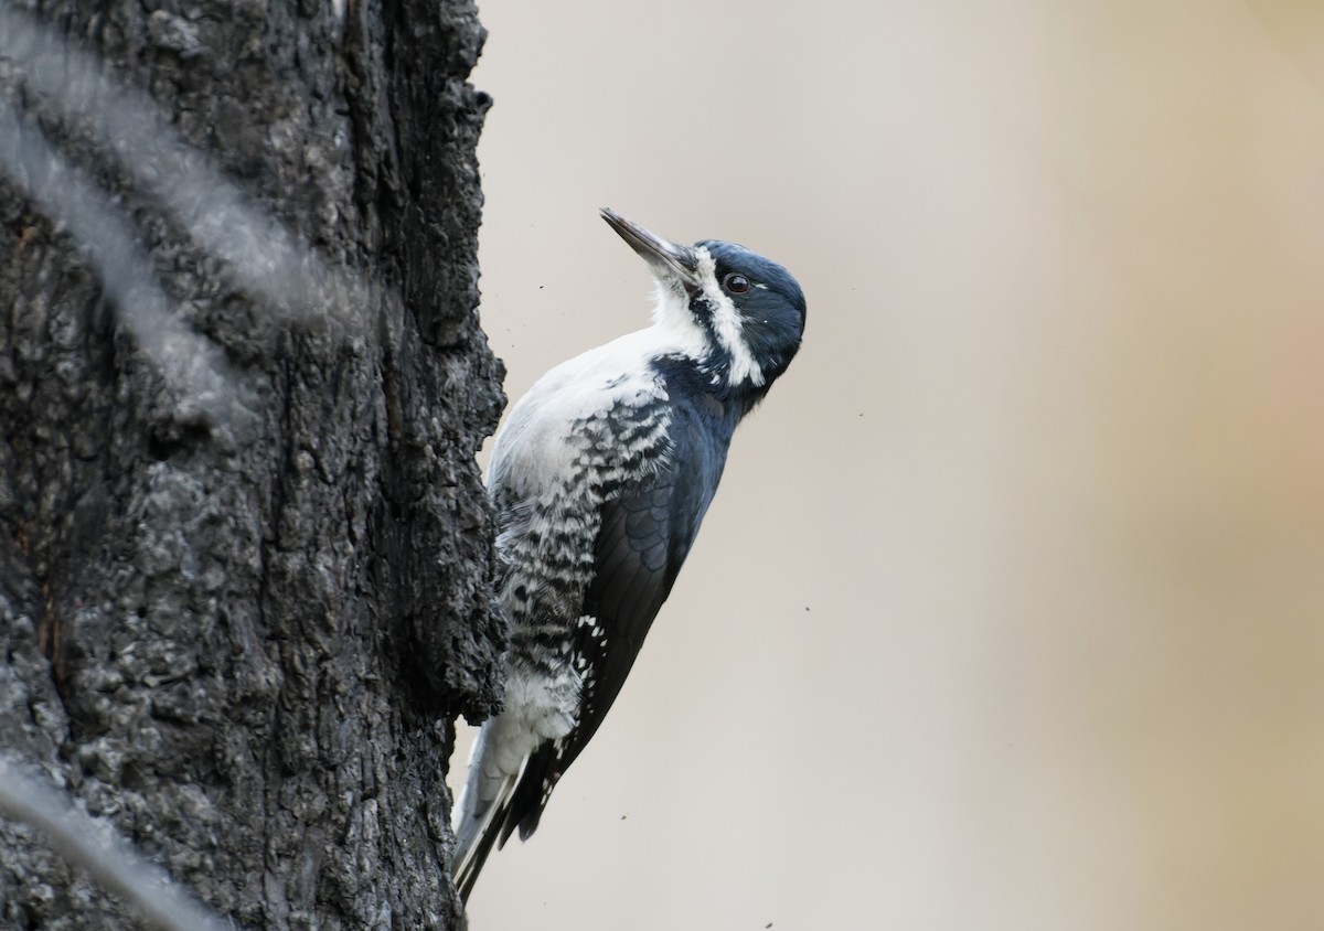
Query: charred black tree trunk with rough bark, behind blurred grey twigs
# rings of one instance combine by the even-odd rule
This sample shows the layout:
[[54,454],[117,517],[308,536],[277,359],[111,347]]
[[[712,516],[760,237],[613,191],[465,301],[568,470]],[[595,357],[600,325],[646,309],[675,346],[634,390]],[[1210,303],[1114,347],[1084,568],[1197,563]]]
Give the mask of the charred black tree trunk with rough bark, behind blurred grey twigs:
[[[506,633],[474,462],[503,400],[477,322],[475,9],[0,8],[101,69],[77,87],[58,48],[0,45],[19,114],[0,121],[0,752],[245,927],[457,927],[444,777],[454,716],[495,702]],[[61,117],[41,69],[107,107],[146,93],[351,273],[319,294],[356,306],[258,293],[144,185],[179,146],[127,163],[134,130]],[[24,163],[42,140],[62,164]],[[214,350],[211,397],[134,317],[140,295],[107,286],[106,244],[44,208],[75,177],[130,219],[171,319]],[[0,822],[0,926],[134,919]]]

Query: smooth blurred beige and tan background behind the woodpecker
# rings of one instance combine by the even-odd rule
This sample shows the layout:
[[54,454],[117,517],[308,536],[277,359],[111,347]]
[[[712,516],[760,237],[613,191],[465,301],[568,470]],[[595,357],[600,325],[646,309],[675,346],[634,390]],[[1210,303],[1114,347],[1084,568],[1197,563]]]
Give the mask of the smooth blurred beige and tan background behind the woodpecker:
[[1324,927],[1324,5],[482,16],[512,399],[646,323],[601,205],[809,326],[471,927]]

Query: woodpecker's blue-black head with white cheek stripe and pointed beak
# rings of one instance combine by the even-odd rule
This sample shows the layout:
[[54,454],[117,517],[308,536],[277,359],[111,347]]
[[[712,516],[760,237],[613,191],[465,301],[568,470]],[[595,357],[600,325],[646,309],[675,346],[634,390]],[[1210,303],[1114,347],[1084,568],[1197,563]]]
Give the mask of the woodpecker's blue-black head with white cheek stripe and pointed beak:
[[614,211],[602,219],[649,264],[658,285],[657,323],[722,395],[756,403],[786,371],[805,331],[805,295],[784,268],[744,246],[692,246],[655,236]]

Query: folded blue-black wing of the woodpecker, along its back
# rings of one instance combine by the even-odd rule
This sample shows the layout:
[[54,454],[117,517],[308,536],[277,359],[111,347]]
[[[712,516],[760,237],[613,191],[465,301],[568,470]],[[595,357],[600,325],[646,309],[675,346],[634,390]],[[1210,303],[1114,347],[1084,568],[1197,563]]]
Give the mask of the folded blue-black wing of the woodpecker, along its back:
[[575,644],[584,689],[575,728],[530,758],[511,800],[502,842],[527,838],[561,773],[575,761],[625,685],[643,638],[718,490],[733,424],[677,411],[665,466],[602,506],[594,577]]

